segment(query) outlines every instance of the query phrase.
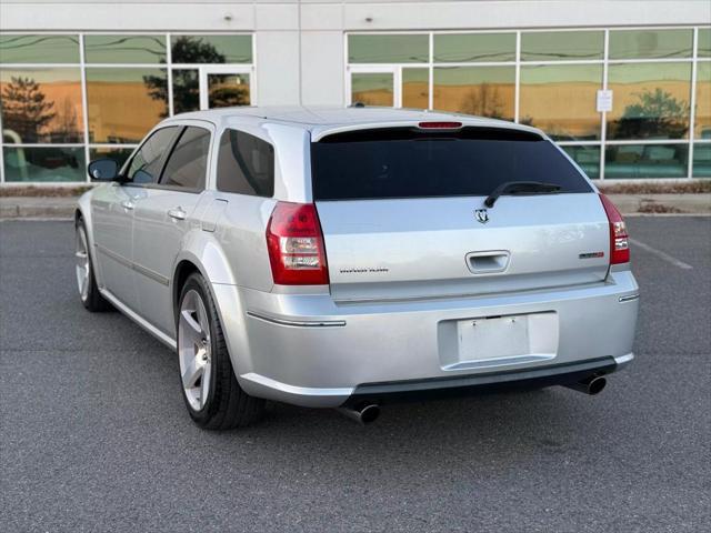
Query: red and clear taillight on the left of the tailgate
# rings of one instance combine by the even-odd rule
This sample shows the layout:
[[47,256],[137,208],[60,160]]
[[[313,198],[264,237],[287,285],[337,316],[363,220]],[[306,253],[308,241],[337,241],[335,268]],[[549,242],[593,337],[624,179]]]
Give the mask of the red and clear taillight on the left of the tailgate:
[[278,202],[267,225],[267,248],[274,283],[328,284],[323,234],[312,203]]

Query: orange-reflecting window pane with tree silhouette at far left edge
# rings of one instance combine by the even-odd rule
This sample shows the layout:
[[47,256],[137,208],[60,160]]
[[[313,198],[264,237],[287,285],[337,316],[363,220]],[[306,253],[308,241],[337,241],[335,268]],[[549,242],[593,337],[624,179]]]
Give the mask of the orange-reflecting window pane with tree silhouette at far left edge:
[[2,69],[0,105],[7,143],[83,141],[79,68]]

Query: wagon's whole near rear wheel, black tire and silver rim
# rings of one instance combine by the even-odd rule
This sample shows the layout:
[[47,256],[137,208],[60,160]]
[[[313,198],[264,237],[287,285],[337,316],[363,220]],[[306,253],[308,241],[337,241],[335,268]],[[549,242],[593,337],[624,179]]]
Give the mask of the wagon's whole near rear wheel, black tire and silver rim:
[[176,331],[182,395],[196,424],[231,430],[260,420],[264,400],[250,396],[237,382],[210,288],[199,273],[180,291]]

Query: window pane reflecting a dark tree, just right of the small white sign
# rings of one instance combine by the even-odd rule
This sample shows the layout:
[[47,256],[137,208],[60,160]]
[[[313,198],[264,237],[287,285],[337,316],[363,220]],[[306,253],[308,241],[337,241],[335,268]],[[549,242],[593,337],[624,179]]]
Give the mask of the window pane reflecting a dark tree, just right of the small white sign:
[[611,64],[609,139],[682,139],[689,134],[690,63]]

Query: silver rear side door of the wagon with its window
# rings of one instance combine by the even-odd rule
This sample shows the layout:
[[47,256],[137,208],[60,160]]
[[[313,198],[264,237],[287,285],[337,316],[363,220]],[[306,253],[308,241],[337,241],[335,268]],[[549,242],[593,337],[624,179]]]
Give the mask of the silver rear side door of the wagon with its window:
[[206,189],[211,125],[182,128],[160,179],[136,202],[134,280],[140,313],[168,335],[174,334],[170,280],[186,234],[200,231],[194,217]]

